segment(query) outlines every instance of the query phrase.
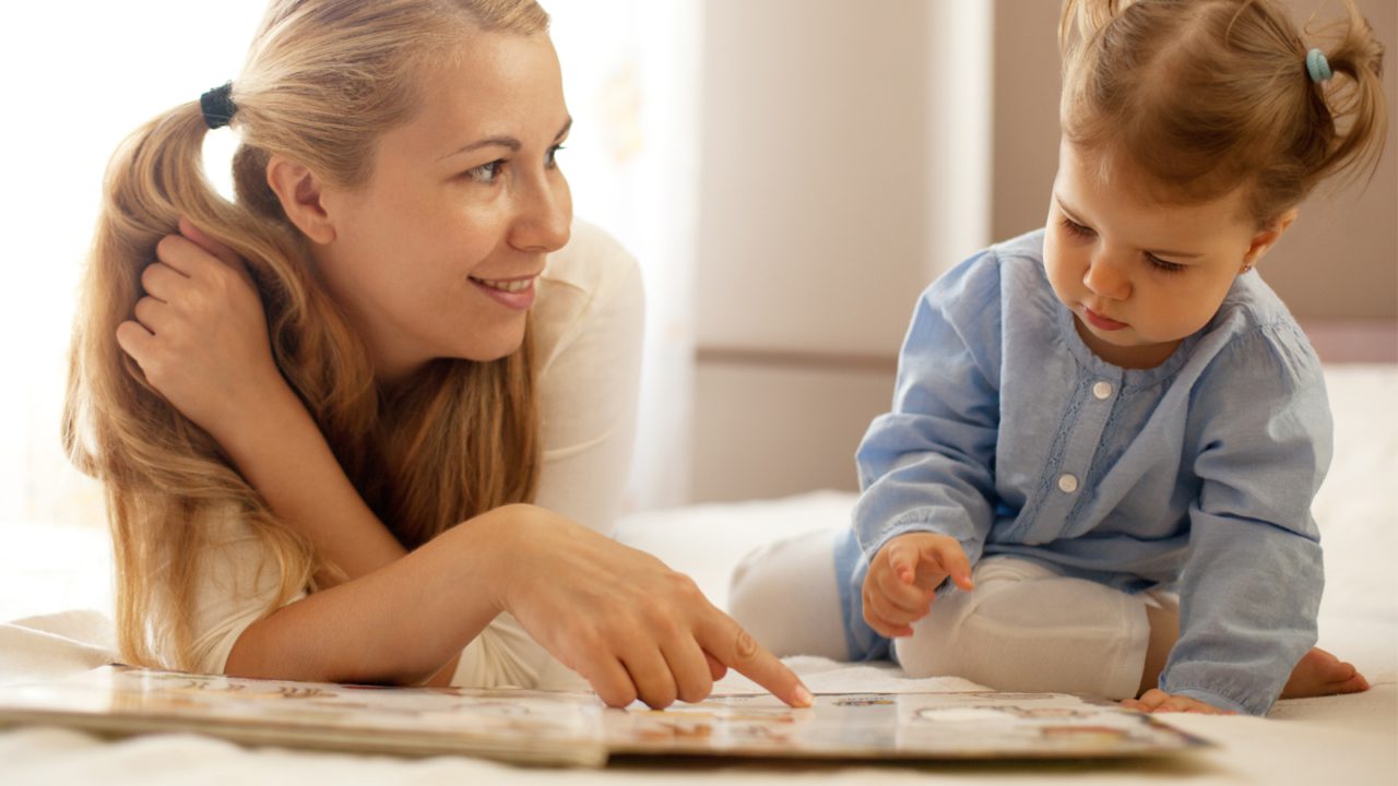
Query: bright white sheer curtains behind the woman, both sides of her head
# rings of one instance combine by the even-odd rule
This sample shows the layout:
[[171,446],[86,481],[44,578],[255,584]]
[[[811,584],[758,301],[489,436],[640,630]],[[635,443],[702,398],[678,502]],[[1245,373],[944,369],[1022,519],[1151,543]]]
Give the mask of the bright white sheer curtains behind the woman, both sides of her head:
[[[688,477],[698,0],[544,4],[576,116],[561,161],[577,214],[644,266],[644,401],[629,503],[675,503]],[[236,76],[263,8],[261,0],[138,0],[4,11],[0,536],[27,523],[102,522],[101,490],[59,445],[73,306],[102,172],[138,124]],[[228,130],[206,145],[208,172],[225,189],[233,145]]]

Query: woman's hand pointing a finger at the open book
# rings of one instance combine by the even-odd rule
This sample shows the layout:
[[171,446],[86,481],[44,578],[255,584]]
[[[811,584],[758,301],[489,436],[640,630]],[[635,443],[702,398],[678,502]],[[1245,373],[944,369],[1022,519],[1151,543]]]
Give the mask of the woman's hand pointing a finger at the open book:
[[696,702],[727,667],[791,706],[811,705],[800,678],[688,576],[541,508],[492,513],[510,555],[491,580],[499,607],[608,705]]

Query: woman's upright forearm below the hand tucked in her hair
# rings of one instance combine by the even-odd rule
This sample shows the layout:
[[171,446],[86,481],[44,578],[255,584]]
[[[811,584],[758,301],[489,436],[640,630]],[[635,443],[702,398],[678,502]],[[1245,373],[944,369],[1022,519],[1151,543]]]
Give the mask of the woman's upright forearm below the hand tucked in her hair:
[[310,540],[316,554],[356,579],[407,550],[365,505],[319,427],[285,385],[259,417],[212,434],[273,512]]

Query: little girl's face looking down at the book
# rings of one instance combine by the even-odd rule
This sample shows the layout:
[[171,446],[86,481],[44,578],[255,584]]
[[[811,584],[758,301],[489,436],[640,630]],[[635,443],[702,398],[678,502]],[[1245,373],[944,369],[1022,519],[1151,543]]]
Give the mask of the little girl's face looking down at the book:
[[1096,158],[1060,145],[1044,267],[1082,340],[1124,368],[1165,362],[1295,218],[1293,210],[1258,231],[1244,189],[1187,206],[1158,204],[1145,193],[1121,168],[1104,182]]

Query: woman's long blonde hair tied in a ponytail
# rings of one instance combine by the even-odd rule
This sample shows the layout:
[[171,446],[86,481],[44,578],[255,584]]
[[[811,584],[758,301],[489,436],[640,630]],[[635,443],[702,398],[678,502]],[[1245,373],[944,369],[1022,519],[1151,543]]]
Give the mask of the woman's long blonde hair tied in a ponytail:
[[235,201],[204,178],[208,129],[197,101],[138,129],[112,158],[74,327],[63,439],[106,490],[127,660],[192,666],[193,596],[212,517],[240,516],[275,555],[263,569],[280,573],[278,606],[317,571],[334,571],[116,344],[117,324],[144,295],[155,243],[182,215],[247,260],[277,365],[404,545],[533,499],[540,446],[530,329],[506,358],[438,359],[397,392],[380,390],[266,172],[280,154],[334,186],[366,183],[379,137],[424,105],[425,67],[453,56],[471,31],[547,28],[533,0],[273,0],[232,85]]

